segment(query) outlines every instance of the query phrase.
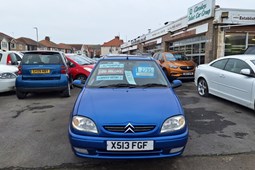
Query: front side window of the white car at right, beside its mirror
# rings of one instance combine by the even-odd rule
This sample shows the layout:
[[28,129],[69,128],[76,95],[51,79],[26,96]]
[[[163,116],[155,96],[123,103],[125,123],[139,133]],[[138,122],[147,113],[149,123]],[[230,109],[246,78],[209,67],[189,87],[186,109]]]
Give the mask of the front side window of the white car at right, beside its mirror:
[[252,70],[247,63],[239,59],[229,59],[225,67],[226,71],[230,71],[230,72],[238,73],[238,74],[240,73],[242,69]]

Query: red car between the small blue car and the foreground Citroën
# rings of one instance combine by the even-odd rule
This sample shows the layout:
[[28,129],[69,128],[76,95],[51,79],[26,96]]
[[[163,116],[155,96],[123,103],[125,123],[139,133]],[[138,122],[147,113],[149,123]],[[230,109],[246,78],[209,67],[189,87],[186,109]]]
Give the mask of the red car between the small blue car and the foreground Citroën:
[[72,76],[72,79],[87,80],[90,72],[94,68],[94,63],[79,55],[67,55],[66,58],[70,62],[69,74]]

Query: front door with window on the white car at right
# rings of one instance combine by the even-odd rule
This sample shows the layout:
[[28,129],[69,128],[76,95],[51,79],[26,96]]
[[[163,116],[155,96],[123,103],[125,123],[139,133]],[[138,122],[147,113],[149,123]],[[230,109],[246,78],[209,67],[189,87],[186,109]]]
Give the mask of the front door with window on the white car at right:
[[219,88],[222,89],[222,97],[244,106],[252,102],[253,77],[242,75],[242,69],[251,69],[243,60],[229,59],[219,76],[221,81]]

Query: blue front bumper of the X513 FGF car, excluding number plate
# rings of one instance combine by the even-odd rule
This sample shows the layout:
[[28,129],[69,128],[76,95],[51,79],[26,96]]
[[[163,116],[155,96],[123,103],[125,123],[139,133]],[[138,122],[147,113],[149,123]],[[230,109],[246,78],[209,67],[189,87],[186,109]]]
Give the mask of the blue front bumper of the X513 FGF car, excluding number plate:
[[[179,156],[188,140],[188,129],[182,134],[143,138],[109,138],[74,134],[69,128],[69,140],[75,155],[103,159],[145,159]],[[107,151],[107,141],[145,141],[153,140],[151,151]],[[84,152],[84,150],[86,152]]]

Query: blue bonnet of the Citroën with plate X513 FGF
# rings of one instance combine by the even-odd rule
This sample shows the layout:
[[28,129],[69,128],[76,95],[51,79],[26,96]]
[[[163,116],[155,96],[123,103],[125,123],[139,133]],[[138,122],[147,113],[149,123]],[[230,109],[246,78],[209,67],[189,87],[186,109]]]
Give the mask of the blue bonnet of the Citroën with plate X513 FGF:
[[162,123],[183,114],[179,100],[171,88],[84,89],[76,113],[97,124]]

